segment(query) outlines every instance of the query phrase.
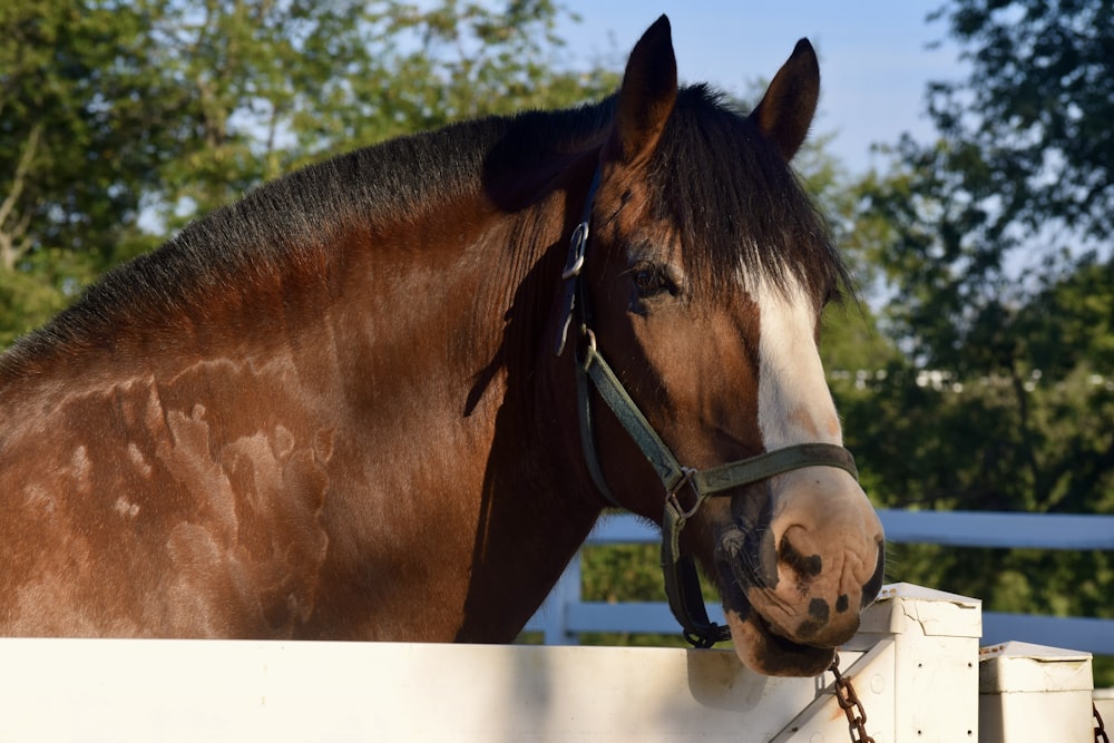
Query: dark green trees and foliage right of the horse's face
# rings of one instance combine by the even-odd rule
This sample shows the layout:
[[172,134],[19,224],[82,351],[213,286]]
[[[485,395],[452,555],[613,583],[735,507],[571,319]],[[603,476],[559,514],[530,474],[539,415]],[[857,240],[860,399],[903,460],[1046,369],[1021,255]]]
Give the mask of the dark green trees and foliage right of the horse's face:
[[[1111,11],[955,0],[932,16],[970,75],[929,87],[935,141],[902,138],[859,185],[906,355],[836,390],[882,505],[1114,512]],[[896,553],[891,577],[988,609],[1111,616],[1105,553]]]

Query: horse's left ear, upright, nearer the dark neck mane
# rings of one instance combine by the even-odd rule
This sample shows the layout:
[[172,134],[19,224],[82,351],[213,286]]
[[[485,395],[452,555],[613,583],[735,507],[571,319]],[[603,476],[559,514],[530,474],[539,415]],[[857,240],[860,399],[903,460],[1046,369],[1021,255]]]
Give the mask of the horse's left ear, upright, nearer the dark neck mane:
[[631,51],[619,88],[607,156],[625,165],[649,157],[677,99],[677,60],[662,16]]

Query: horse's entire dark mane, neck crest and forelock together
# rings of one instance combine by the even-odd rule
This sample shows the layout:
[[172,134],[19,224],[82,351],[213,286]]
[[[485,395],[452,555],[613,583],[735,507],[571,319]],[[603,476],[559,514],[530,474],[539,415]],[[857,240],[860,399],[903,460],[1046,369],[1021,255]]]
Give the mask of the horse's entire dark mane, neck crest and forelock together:
[[[246,307],[250,286],[281,297],[292,272],[324,282],[328,246],[341,231],[369,221],[418,219],[423,205],[479,190],[492,173],[541,166],[583,149],[599,140],[614,109],[613,96],[570,109],[465,121],[264,184],[108,272],[0,355],[0,374],[104,346],[134,323],[175,332],[183,317],[204,316],[218,292]],[[678,226],[686,270],[713,289],[737,282],[741,262],[775,277],[803,266],[812,286],[846,284],[827,225],[792,172],[771,146],[750,144],[762,136],[706,86],[681,90],[652,159],[652,180],[655,208]],[[701,244],[706,247],[695,247]]]

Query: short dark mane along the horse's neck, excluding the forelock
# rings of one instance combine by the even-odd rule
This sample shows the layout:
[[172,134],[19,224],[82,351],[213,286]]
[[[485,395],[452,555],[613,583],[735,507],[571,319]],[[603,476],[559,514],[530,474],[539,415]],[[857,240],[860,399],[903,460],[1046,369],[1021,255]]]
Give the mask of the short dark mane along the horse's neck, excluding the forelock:
[[423,206],[479,190],[490,176],[492,150],[499,150],[499,170],[530,167],[597,136],[612,108],[608,99],[462,121],[338,155],[263,184],[107,272],[0,354],[0,374],[107,345],[133,323],[172,332],[183,316],[205,314],[222,292],[281,292],[289,274],[324,274],[331,238],[345,229],[421,218]]

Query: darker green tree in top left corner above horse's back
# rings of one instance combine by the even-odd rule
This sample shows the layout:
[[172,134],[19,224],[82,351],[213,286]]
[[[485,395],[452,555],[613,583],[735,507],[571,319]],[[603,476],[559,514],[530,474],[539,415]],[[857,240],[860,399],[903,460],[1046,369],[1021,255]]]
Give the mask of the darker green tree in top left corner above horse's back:
[[179,139],[149,18],[127,2],[0,8],[0,343],[150,244],[134,228],[140,194]]

